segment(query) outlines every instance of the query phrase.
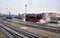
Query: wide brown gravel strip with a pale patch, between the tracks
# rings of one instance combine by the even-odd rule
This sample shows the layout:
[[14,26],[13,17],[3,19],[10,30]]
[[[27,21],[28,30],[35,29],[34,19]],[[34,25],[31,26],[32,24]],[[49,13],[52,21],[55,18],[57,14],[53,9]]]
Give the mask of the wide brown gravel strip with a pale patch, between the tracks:
[[45,30],[41,30],[41,29],[37,29],[37,28],[32,28],[32,27],[27,27],[27,26],[22,26],[18,23],[13,23],[13,22],[10,22],[10,23],[20,29],[24,29],[24,30],[27,30],[29,32],[32,32],[32,33],[35,33],[38,35],[42,35],[42,36],[45,36],[48,38],[60,38],[60,34],[58,34],[58,33],[49,32],[49,31],[45,31]]

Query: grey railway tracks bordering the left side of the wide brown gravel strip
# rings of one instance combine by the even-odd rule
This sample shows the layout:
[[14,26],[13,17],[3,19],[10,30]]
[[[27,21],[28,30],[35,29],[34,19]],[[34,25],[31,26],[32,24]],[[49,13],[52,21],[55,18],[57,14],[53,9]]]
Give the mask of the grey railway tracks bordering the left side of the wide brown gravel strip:
[[17,27],[14,27],[11,24],[5,23],[3,21],[0,21],[0,23],[0,27],[9,32],[15,38],[46,38],[22,29],[18,29]]

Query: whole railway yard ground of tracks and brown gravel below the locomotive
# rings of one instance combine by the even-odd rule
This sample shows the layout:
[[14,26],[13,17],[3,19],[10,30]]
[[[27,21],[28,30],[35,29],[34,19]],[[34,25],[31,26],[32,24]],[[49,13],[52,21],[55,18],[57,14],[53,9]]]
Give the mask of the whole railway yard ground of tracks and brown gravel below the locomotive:
[[60,38],[60,28],[22,20],[0,19],[1,32],[6,38]]

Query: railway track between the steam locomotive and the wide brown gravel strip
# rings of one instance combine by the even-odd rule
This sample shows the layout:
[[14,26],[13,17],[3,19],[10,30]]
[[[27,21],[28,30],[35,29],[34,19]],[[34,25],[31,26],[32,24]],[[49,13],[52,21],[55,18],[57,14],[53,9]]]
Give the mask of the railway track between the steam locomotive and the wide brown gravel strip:
[[47,26],[44,24],[36,24],[36,23],[23,22],[23,21],[20,21],[20,22],[15,21],[15,23],[19,23],[21,25],[29,26],[33,28],[43,29],[43,30],[50,31],[50,32],[60,33],[60,29],[57,29],[58,27],[51,27],[51,26]]

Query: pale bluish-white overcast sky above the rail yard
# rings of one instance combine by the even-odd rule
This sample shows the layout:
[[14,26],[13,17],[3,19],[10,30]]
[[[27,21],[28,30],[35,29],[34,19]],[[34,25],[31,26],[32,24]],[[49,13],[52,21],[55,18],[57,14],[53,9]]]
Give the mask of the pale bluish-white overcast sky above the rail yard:
[[54,12],[60,13],[60,0],[0,0],[0,13],[11,14]]

